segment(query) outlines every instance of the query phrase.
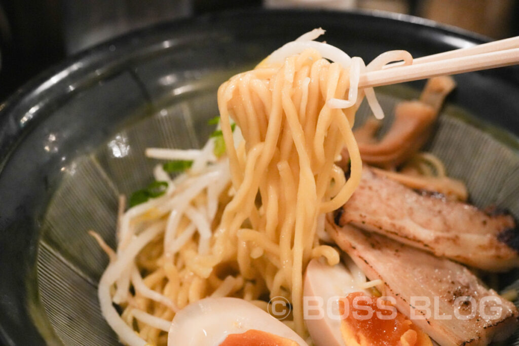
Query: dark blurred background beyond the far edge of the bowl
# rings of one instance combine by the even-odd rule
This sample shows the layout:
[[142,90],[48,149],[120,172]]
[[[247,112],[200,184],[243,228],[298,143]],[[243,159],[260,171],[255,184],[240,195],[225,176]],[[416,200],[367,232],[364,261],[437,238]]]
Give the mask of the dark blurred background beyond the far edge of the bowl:
[[0,0],[0,102],[52,64],[128,31],[260,6],[383,10],[494,39],[519,35],[519,0]]

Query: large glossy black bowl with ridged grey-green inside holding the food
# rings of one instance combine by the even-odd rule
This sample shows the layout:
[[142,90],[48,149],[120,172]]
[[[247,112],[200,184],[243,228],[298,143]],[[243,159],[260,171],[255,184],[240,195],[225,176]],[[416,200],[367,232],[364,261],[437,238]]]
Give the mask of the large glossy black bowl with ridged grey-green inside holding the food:
[[[2,104],[0,340],[117,344],[95,292],[107,259],[86,231],[114,245],[117,193],[151,176],[154,162],[142,148],[203,143],[211,131],[206,119],[217,113],[218,84],[319,26],[326,41],[366,61],[386,50],[419,57],[485,40],[378,12],[226,12],[154,26],[80,53]],[[456,81],[453,106],[429,148],[466,179],[474,203],[497,203],[517,216],[519,68]],[[422,85],[383,88],[380,97],[390,110]]]

